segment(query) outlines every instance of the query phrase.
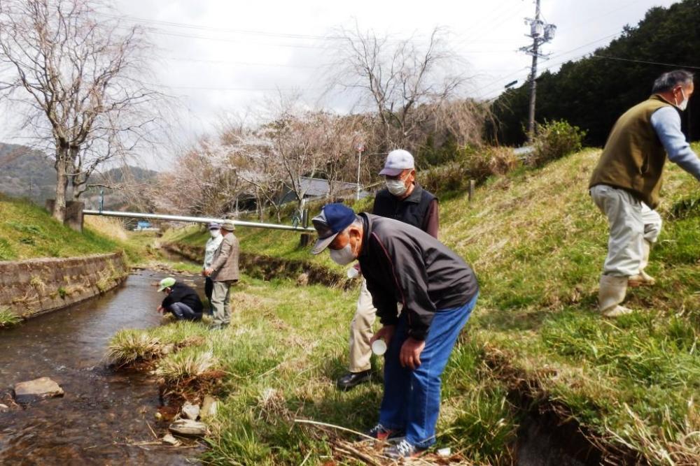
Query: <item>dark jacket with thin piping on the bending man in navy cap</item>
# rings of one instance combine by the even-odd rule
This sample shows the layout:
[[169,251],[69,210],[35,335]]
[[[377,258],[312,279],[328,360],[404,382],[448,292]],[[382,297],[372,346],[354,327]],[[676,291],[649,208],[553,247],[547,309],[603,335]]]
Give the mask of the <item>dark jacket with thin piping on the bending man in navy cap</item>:
[[381,323],[407,312],[408,335],[424,340],[435,312],[461,307],[479,292],[474,272],[461,257],[414,226],[373,214],[364,222],[358,256]]

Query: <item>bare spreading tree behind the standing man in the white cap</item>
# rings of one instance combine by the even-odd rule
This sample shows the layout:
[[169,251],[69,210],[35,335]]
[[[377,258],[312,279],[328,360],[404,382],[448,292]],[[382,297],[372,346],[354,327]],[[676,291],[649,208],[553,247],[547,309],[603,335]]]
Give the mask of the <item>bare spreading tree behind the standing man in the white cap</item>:
[[434,110],[465,83],[461,73],[451,71],[459,59],[447,49],[444,31],[433,29],[423,47],[412,38],[393,41],[357,26],[340,34],[330,86],[357,91],[376,112],[379,149],[419,147]]

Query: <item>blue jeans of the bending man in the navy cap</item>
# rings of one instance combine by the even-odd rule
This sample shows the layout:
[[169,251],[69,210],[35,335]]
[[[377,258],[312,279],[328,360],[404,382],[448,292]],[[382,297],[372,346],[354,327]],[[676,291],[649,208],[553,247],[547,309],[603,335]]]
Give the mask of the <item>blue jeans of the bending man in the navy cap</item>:
[[416,370],[401,367],[399,362],[401,346],[407,338],[405,312],[399,316],[384,356],[384,398],[379,409],[379,423],[390,429],[405,429],[406,440],[421,449],[435,443],[442,371],[460,330],[477,303],[477,296],[462,307],[435,312],[426,335],[426,347],[420,356],[421,365]]

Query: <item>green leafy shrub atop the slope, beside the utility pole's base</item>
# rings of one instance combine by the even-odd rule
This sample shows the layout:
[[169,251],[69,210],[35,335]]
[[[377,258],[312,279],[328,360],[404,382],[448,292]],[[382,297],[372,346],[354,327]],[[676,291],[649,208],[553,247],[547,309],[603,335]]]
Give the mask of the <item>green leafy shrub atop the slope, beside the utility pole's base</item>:
[[586,131],[573,126],[563,119],[538,124],[537,135],[533,140],[533,152],[527,163],[542,166],[561,157],[578,152],[583,145]]

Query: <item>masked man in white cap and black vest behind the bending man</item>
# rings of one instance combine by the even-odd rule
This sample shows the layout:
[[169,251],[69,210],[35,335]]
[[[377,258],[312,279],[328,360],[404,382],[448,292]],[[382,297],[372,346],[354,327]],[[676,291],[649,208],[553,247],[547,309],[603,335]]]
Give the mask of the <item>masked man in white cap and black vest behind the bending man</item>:
[[[389,152],[379,175],[384,175],[386,189],[374,197],[372,214],[402,221],[437,238],[437,198],[416,183],[416,168],[410,152],[401,149]],[[349,390],[370,380],[370,339],[376,317],[377,309],[372,305],[372,296],[363,279],[355,316],[350,323],[349,372],[338,379],[338,388]]]

